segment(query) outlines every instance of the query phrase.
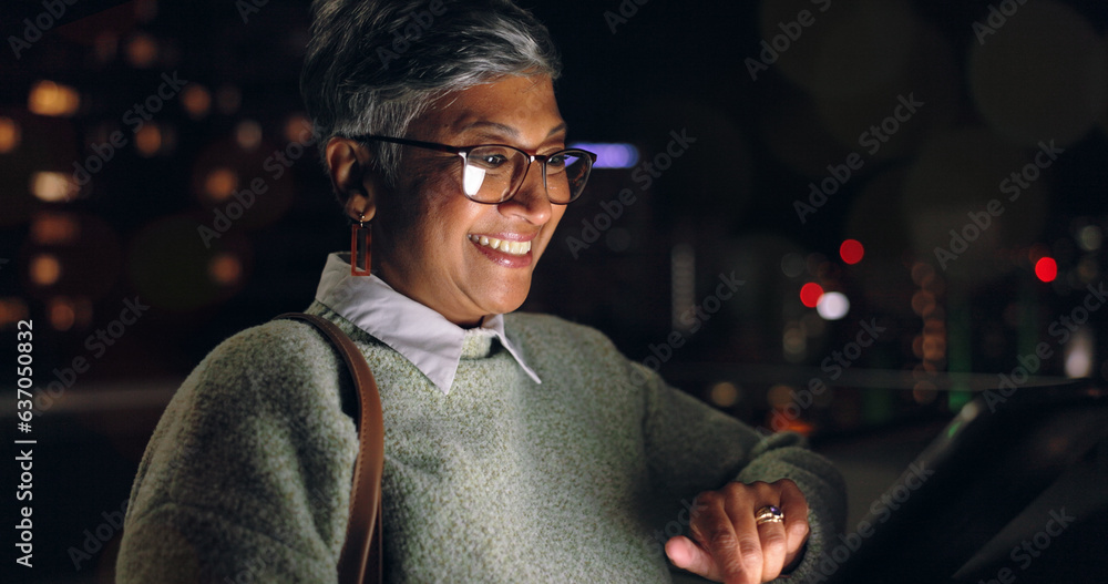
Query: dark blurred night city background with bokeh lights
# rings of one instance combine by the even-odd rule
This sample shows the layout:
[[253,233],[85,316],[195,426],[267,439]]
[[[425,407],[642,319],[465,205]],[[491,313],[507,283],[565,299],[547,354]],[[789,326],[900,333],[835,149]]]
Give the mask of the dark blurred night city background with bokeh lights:
[[[524,310],[829,449],[1005,379],[1108,380],[1108,4],[521,3],[603,166]],[[308,2],[109,4],[0,11],[0,355],[33,319],[42,472],[80,485],[40,503],[40,574],[66,582],[110,578],[72,550],[181,380],[349,245],[297,86]]]

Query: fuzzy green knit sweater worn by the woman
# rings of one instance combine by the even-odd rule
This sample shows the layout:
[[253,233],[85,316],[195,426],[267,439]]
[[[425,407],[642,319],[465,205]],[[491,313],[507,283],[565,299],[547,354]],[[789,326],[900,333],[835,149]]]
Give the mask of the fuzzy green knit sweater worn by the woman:
[[[788,478],[808,498],[793,581],[842,530],[842,481],[799,437],[762,439],[591,328],[507,315],[543,382],[499,341],[468,336],[443,393],[324,305],[308,311],[355,340],[380,387],[389,582],[668,582],[663,544],[686,531],[698,492],[729,480]],[[220,344],[146,449],[117,582],[336,582],[358,449],[351,400],[338,356],[306,324]]]

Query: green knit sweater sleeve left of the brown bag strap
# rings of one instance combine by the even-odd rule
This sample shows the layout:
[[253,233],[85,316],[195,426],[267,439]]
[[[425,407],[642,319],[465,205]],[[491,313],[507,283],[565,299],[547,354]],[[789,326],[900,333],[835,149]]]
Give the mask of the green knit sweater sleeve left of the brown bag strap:
[[335,582],[358,448],[341,370],[300,322],[213,350],[143,457],[117,582]]

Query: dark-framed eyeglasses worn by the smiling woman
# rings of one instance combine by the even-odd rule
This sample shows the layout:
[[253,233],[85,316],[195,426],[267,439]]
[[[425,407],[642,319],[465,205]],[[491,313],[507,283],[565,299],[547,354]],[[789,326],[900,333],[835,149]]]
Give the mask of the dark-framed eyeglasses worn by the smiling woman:
[[350,136],[352,140],[378,140],[416,146],[419,148],[449,152],[462,157],[462,192],[475,203],[495,205],[511,199],[519,193],[527,177],[531,163],[543,166],[543,186],[546,197],[555,205],[566,205],[581,196],[588,181],[588,173],[596,162],[592,152],[566,148],[553,154],[527,154],[515,146],[483,144],[480,146],[448,146],[434,142],[421,142],[389,136]]

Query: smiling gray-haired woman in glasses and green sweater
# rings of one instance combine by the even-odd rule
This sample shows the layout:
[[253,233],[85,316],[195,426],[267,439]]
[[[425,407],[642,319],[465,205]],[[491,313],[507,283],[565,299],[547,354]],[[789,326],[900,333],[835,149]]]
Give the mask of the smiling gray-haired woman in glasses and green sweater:
[[[332,254],[307,311],[380,386],[387,580],[667,582],[667,559],[729,583],[813,575],[844,514],[825,460],[595,330],[509,314],[591,165],[565,151],[545,28],[506,0],[315,10],[301,90],[335,192],[371,224],[373,274]],[[334,582],[350,391],[307,325],[217,347],[147,448],[120,582]]]

